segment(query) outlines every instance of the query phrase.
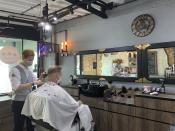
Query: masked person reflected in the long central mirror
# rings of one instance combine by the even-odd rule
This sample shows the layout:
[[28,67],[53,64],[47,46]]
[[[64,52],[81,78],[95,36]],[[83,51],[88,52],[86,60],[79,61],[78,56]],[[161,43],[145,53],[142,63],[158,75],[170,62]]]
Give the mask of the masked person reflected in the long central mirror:
[[112,62],[112,76],[120,76],[122,72],[122,59],[116,59]]

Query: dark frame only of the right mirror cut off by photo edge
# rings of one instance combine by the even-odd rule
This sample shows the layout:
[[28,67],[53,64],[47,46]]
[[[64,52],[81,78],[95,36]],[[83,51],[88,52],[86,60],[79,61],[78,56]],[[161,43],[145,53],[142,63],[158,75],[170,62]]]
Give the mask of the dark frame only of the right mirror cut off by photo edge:
[[[149,47],[147,47],[145,50],[143,50],[142,53],[142,61],[144,63],[145,66],[143,66],[143,76],[151,81],[152,83],[160,83],[160,79],[159,78],[150,78],[149,74],[148,74],[148,50],[149,49],[157,49],[157,48],[169,48],[169,47],[175,47],[175,42],[163,42],[163,43],[153,43],[150,44]],[[165,79],[165,83],[166,84],[175,84],[175,78],[163,78]]]

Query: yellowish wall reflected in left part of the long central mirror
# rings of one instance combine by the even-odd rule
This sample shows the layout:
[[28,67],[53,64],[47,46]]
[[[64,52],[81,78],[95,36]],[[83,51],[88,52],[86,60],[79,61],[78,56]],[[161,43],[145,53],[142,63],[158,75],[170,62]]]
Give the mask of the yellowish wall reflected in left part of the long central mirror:
[[97,75],[96,54],[82,55],[82,75]]

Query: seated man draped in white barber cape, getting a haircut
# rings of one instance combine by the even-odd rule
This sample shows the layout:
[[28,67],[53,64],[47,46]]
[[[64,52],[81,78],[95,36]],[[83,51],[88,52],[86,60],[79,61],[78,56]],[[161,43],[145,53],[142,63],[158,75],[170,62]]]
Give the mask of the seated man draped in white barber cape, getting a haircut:
[[72,123],[78,113],[85,131],[90,131],[92,115],[89,107],[75,101],[57,84],[61,67],[50,67],[47,75],[48,81],[27,96],[22,114],[43,120],[58,131],[72,131]]

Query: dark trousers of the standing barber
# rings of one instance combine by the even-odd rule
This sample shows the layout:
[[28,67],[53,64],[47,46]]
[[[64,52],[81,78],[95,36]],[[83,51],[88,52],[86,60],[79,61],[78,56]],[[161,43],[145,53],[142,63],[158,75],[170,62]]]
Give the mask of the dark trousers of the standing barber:
[[28,117],[21,115],[23,105],[23,101],[12,101],[12,112],[14,117],[13,131],[23,131],[25,122],[27,126],[27,131],[34,131],[34,127],[31,123],[31,120]]

